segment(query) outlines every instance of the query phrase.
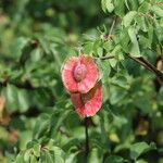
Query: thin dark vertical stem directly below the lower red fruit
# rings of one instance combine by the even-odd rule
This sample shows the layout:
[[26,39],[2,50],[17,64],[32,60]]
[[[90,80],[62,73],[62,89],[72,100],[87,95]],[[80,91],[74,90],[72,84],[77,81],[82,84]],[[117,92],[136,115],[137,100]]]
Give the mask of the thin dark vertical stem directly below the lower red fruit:
[[85,135],[86,135],[86,163],[88,162],[89,153],[89,137],[88,137],[88,117],[85,117]]

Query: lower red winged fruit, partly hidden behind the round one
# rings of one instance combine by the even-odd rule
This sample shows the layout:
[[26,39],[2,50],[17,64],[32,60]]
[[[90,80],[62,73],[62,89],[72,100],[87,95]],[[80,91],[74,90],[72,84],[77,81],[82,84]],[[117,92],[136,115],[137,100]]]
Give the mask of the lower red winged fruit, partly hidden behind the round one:
[[102,105],[102,86],[98,83],[87,93],[71,93],[71,99],[79,116],[93,116]]

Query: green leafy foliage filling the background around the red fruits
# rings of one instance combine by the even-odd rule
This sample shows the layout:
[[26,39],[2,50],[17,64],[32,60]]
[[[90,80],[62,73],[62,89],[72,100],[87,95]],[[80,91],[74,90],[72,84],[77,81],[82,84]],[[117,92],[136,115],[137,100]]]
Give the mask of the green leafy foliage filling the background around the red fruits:
[[103,84],[88,162],[163,163],[163,87],[127,58],[156,64],[162,16],[159,0],[1,0],[0,162],[86,161],[84,120],[60,73],[82,48],[97,59]]

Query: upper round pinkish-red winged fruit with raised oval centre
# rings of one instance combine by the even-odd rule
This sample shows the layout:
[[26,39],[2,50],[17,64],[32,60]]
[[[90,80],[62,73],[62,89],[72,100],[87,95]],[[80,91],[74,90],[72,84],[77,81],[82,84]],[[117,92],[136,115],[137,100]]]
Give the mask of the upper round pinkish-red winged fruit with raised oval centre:
[[84,54],[68,58],[61,73],[63,85],[70,92],[87,93],[99,78],[95,60]]

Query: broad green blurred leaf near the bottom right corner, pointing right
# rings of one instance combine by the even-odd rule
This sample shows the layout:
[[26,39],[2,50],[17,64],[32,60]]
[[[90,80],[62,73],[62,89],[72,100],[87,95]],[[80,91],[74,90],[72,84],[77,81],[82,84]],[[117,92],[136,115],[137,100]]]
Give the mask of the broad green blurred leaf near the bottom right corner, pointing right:
[[156,149],[154,143],[136,142],[130,147],[130,158],[137,160],[140,154],[154,149]]

